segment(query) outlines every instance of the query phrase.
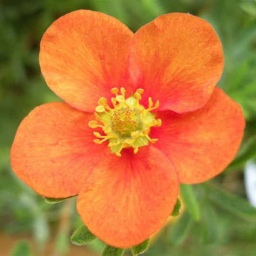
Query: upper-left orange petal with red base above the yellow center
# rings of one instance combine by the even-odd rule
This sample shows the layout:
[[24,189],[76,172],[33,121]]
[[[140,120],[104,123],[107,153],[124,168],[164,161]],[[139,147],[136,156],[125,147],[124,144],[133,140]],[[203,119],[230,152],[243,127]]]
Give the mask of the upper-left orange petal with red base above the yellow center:
[[133,33],[119,20],[79,10],[56,20],[40,44],[41,71],[50,89],[76,109],[93,112],[110,89],[125,87]]

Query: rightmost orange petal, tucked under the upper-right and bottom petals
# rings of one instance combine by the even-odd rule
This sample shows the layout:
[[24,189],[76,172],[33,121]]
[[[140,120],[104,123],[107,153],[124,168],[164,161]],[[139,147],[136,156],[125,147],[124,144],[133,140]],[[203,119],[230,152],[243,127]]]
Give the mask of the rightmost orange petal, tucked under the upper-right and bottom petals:
[[215,87],[207,105],[191,113],[159,112],[154,144],[173,162],[181,183],[204,182],[232,161],[244,133],[241,107]]

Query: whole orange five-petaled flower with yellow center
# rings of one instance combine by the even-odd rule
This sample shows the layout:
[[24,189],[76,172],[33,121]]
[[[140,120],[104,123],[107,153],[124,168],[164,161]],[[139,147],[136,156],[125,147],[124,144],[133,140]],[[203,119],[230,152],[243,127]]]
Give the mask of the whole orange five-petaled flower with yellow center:
[[221,43],[200,18],[166,14],[133,34],[106,14],[71,12],[44,34],[39,61],[66,103],[24,118],[12,168],[40,195],[78,194],[85,225],[107,244],[158,231],[179,182],[214,177],[238,150],[243,113],[215,87]]

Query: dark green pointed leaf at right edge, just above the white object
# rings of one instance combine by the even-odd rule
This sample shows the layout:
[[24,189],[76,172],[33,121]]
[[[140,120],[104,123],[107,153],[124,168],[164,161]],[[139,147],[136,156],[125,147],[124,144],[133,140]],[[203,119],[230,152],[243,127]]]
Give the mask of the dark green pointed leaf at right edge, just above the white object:
[[256,135],[248,139],[242,150],[239,152],[237,157],[232,161],[229,167],[242,165],[247,160],[254,157],[256,157]]

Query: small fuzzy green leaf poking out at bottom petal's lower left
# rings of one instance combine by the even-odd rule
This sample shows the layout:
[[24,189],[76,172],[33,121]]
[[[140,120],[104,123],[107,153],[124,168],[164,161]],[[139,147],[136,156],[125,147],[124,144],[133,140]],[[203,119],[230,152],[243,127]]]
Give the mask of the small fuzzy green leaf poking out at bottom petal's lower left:
[[85,225],[73,232],[73,235],[70,238],[70,241],[73,244],[85,245],[94,241],[97,237],[93,235]]

